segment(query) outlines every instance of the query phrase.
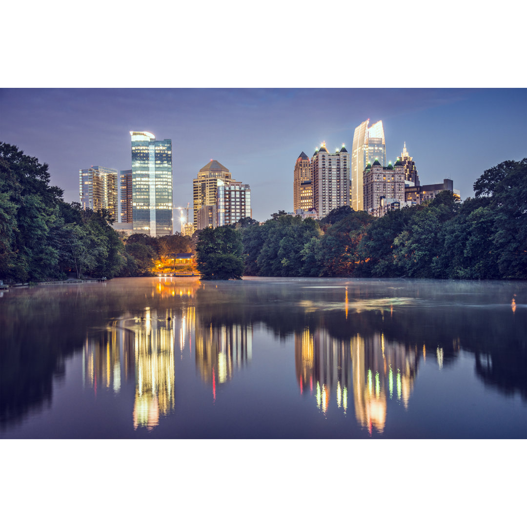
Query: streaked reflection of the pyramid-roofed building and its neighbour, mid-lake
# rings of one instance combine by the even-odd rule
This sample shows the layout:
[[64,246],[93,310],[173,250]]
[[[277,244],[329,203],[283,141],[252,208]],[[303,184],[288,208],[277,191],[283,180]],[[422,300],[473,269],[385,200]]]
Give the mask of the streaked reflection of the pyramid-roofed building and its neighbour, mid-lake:
[[216,387],[228,382],[235,369],[252,358],[252,327],[248,325],[196,324],[196,368],[201,378],[212,386],[216,401]]

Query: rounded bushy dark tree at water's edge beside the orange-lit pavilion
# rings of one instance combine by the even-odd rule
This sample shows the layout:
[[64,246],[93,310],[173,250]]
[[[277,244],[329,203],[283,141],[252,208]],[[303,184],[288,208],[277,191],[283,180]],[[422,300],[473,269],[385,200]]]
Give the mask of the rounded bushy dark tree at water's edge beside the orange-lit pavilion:
[[241,234],[232,226],[200,231],[197,266],[203,280],[239,279],[243,274]]

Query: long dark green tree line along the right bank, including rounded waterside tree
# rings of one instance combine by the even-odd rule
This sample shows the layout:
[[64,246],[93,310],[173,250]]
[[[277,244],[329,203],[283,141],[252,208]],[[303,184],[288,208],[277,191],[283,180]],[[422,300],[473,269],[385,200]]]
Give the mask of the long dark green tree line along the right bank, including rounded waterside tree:
[[262,225],[206,229],[198,270],[205,279],[527,278],[527,158],[485,170],[473,188],[463,202],[443,191],[382,218],[345,206],[321,220],[278,211]]

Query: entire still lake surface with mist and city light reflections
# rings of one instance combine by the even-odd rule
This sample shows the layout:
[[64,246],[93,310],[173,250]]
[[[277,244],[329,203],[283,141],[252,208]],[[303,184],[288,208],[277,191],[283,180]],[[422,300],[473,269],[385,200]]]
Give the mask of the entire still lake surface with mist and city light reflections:
[[521,282],[0,293],[2,438],[525,438]]

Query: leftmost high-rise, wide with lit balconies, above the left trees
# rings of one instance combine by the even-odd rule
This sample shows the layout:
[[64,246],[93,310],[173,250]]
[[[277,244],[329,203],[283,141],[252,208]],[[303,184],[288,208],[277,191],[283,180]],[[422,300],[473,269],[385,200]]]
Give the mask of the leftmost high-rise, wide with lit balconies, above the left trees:
[[117,221],[117,171],[99,166],[79,170],[79,198],[84,210],[106,209]]

